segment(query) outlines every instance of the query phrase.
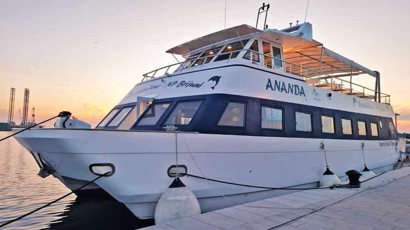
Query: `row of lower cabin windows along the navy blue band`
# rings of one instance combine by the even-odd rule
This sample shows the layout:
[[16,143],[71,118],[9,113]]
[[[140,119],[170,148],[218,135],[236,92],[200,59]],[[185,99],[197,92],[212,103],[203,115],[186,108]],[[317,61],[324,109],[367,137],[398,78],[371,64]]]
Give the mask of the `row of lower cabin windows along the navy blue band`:
[[[203,100],[181,101],[178,102],[171,114],[167,117],[164,125],[189,125],[194,118],[196,112],[201,106]],[[155,103],[143,114],[137,126],[156,125],[159,119],[163,116],[165,111],[170,107],[170,102]],[[108,115],[101,121],[98,127],[116,127],[129,114],[133,106],[123,108],[115,108],[111,110]],[[236,126],[245,127],[245,102],[229,102],[221,118],[219,119],[219,126]],[[273,108],[262,106],[260,124],[263,129],[284,130],[284,110],[282,108]],[[322,133],[335,133],[334,117],[321,115]],[[351,119],[341,119],[342,134],[353,135]],[[312,132],[312,114],[309,112],[295,112],[295,129],[296,131]],[[367,136],[366,122],[357,121],[358,135]],[[379,127],[382,128],[382,122],[370,123],[371,136],[379,136]]]

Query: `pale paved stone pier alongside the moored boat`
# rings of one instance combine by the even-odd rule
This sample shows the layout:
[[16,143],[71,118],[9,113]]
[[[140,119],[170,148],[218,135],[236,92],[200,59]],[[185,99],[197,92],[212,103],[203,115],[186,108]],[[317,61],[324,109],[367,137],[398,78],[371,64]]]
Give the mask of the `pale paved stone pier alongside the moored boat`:
[[361,188],[304,190],[143,228],[409,229],[410,168],[389,171]]

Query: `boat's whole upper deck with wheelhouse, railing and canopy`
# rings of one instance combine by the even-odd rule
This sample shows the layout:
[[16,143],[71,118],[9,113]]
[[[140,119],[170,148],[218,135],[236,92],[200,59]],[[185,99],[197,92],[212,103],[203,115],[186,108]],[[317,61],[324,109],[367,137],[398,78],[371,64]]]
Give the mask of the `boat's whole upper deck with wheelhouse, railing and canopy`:
[[[185,60],[144,74],[142,81],[199,68],[246,64],[303,79],[308,85],[338,93],[390,103],[380,92],[380,74],[333,52],[312,39],[312,26],[304,23],[283,30],[258,30],[240,25],[221,30],[167,50]],[[371,89],[352,82],[353,76],[375,78]]]

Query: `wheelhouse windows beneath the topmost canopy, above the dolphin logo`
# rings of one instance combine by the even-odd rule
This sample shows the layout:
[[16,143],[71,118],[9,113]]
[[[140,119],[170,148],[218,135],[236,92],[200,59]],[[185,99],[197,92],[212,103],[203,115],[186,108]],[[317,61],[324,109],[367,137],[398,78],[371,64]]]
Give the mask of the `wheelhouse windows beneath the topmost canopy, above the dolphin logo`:
[[[234,42],[231,44],[228,44],[225,46],[225,48],[220,52],[218,56],[216,56],[214,62],[222,61],[222,60],[228,60],[228,59],[234,59],[235,57],[238,56],[239,52],[243,50],[246,46],[246,44],[249,42],[249,40],[245,41],[239,41],[239,42]],[[268,42],[262,42],[263,46],[263,53],[268,56],[273,56],[273,64],[276,67],[282,67],[282,52],[280,48],[277,48],[275,46],[272,46],[271,43]],[[184,68],[192,67],[192,66],[198,66],[202,64],[208,64],[209,62],[212,61],[213,57],[212,55],[215,55],[219,53],[219,51],[222,49],[222,47],[214,47],[212,49],[206,50],[202,53],[197,53],[194,54],[190,57],[188,57],[187,62],[185,62]],[[259,45],[258,45],[258,40],[255,40],[252,45],[249,47],[250,50],[248,50],[245,55],[243,56],[244,59],[250,60],[254,63],[259,63]],[[237,52],[234,52],[237,51]],[[254,52],[253,52],[254,51]],[[272,55],[273,54],[273,55]],[[272,68],[272,57],[264,56],[264,63],[266,68]],[[195,59],[198,59],[195,61]],[[192,61],[191,61],[192,60]]]

